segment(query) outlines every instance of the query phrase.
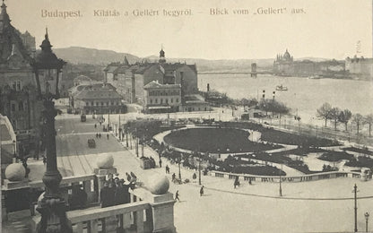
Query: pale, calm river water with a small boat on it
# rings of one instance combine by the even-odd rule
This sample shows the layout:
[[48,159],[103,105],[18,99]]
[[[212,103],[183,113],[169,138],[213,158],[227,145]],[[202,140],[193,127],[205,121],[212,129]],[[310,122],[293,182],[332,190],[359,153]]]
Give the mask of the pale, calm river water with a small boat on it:
[[288,91],[275,91],[274,98],[284,102],[305,123],[316,123],[317,108],[324,102],[333,107],[348,108],[352,114],[373,114],[373,82],[337,79],[308,79],[300,77],[278,77],[249,74],[198,74],[199,89],[210,89],[227,93],[230,98],[272,98],[277,85]]

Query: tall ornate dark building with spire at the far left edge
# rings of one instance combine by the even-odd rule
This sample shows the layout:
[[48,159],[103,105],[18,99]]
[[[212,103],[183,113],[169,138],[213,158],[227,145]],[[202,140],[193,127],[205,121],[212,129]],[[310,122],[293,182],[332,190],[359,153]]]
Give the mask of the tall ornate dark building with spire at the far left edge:
[[39,144],[36,80],[30,66],[35,38],[11,24],[6,5],[0,13],[0,113],[9,118],[26,151]]

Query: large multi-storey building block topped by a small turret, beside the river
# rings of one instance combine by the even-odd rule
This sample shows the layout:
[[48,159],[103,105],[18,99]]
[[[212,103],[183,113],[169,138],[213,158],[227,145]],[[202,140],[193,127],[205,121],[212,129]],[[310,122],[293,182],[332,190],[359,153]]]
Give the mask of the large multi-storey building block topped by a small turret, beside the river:
[[[163,49],[160,50],[158,62],[150,63],[145,61],[130,65],[125,57],[123,63],[111,63],[104,69],[104,72],[106,82],[117,88],[117,92],[123,96],[126,103],[138,103],[144,107],[145,111],[155,111],[156,105],[158,105],[157,111],[166,111],[166,107],[163,108],[160,106],[161,104],[164,105],[164,102],[161,104],[160,102],[157,104],[155,102],[151,103],[151,99],[153,99],[150,97],[152,96],[150,95],[152,88],[165,90],[169,90],[170,87],[179,88],[179,102],[178,104],[173,102],[169,108],[167,107],[168,111],[185,109],[181,108],[183,103],[185,103],[183,99],[188,95],[198,94],[196,66],[182,63],[167,63]],[[148,85],[151,82],[152,84]],[[160,98],[157,99],[157,101],[160,101]],[[164,101],[174,101],[174,99],[176,100],[176,96],[174,98],[162,96],[161,99],[164,99]],[[163,109],[160,110],[160,108]]]

